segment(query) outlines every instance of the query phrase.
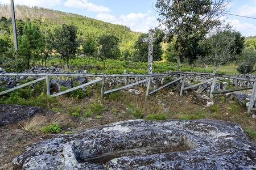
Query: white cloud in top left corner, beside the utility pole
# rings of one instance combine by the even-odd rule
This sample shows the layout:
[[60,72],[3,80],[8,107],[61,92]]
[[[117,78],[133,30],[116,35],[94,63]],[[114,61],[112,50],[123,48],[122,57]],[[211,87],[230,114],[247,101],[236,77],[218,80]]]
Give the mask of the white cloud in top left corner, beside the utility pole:
[[[2,4],[10,4],[10,0],[1,0]],[[44,1],[35,1],[35,0],[15,0],[14,5],[27,5],[27,6],[40,6],[40,7],[52,7],[55,5],[60,5],[61,0],[44,0]]]

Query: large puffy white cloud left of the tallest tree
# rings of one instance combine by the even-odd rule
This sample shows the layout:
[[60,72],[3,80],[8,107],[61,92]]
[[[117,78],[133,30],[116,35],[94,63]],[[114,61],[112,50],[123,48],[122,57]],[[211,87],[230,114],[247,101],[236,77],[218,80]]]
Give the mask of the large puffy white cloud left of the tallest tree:
[[113,15],[100,13],[96,18],[113,24],[126,25],[127,27],[130,27],[132,31],[147,33],[148,29],[158,26],[156,18],[150,16],[150,13],[151,11],[147,11],[144,14],[130,13],[128,15],[120,15],[119,18],[116,18]]

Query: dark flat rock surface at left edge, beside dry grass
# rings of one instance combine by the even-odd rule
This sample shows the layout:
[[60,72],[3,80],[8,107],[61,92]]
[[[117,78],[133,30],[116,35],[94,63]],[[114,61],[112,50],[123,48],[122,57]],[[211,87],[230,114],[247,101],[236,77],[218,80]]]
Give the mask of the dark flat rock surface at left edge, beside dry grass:
[[29,105],[0,104],[0,126],[23,120],[36,111],[38,108]]

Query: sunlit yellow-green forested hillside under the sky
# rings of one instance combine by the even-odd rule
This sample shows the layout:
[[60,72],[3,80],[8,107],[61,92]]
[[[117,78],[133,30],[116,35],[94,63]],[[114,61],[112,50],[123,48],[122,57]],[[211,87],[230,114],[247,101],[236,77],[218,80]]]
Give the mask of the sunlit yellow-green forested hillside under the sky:
[[[11,18],[11,8],[9,5],[0,4],[0,17],[4,16],[7,19]],[[78,37],[85,40],[87,37],[97,38],[104,33],[112,33],[121,40],[121,49],[127,49],[134,44],[141,33],[132,32],[130,28],[124,25],[110,24],[100,20],[88,18],[86,16],[71,14],[69,12],[54,11],[42,7],[28,7],[24,5],[15,6],[16,20],[27,19],[38,23],[38,27],[42,33],[47,29],[59,27],[59,25],[66,23],[73,23],[78,28]],[[11,26],[11,25],[10,25]],[[12,32],[12,29],[10,30]],[[130,43],[129,43],[130,42]],[[131,43],[133,42],[133,43]]]

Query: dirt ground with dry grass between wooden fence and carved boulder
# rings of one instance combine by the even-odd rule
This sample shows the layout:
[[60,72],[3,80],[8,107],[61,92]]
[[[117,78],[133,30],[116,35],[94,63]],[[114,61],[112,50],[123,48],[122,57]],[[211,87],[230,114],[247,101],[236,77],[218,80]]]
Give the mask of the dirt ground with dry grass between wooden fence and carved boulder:
[[[104,111],[100,115],[92,113],[91,116],[81,119],[70,114],[71,108],[81,107],[81,111],[88,111],[88,107],[96,103],[100,103],[98,96],[94,95],[86,99],[73,99],[71,97],[57,97],[57,103],[51,104],[49,110],[38,108],[30,118],[8,124],[0,127],[0,169],[16,169],[12,160],[15,156],[23,153],[23,148],[31,145],[34,142],[43,141],[51,138],[51,134],[45,134],[40,131],[40,128],[47,126],[52,122],[58,122],[61,125],[61,133],[67,131],[80,131],[82,129],[93,126],[111,124],[113,122],[135,119],[134,114],[129,113],[129,109],[136,108],[137,112],[141,112],[146,118],[149,114],[165,113],[168,119],[181,118],[184,115],[199,115],[198,118],[212,118],[224,121],[237,122],[246,128],[250,126],[256,130],[255,120],[246,116],[246,108],[241,105],[234,105],[230,101],[221,101],[223,97],[214,99],[215,105],[218,104],[217,112],[212,108],[205,108],[190,102],[191,95],[179,96],[169,90],[162,90],[145,99],[145,90],[141,95],[131,95],[129,92],[120,91],[115,95],[105,97],[101,101],[104,106]],[[87,107],[86,107],[87,105]],[[233,111],[236,106],[236,111]],[[56,111],[56,108],[58,109]],[[92,109],[92,108],[91,108]],[[134,111],[134,110],[133,110]],[[9,108],[6,112],[11,112]],[[81,112],[82,113],[82,112]],[[80,114],[81,114],[80,113]],[[203,117],[202,117],[203,115]],[[38,127],[34,129],[26,129],[32,121],[39,122]],[[255,142],[255,139],[252,139]]]

